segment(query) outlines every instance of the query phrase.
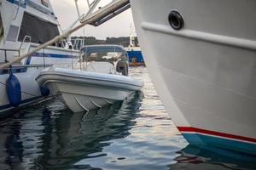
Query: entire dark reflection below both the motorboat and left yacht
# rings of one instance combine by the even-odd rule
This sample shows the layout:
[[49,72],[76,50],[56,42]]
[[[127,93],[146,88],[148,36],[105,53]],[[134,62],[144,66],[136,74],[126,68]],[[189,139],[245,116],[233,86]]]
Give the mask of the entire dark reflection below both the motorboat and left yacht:
[[[85,158],[96,157],[90,154],[101,152],[103,147],[111,144],[110,140],[123,139],[130,134],[141,99],[143,93],[137,92],[124,102],[80,113],[68,111],[58,101],[59,107],[54,102],[48,106],[55,109],[44,108],[41,120],[23,118],[26,111],[21,112],[9,125],[3,122],[4,128],[0,129],[2,134],[4,131],[11,133],[0,140],[5,143],[0,144],[5,147],[1,148],[0,169],[62,169],[73,167],[74,163]],[[87,167],[90,166],[74,168]]]

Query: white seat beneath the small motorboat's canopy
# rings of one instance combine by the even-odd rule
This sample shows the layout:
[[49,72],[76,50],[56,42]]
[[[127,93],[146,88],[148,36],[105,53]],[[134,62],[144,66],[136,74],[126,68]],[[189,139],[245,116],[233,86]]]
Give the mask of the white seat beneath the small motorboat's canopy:
[[109,62],[90,62],[87,67],[86,71],[91,72],[99,72],[99,73],[105,73],[105,74],[114,74],[114,65]]

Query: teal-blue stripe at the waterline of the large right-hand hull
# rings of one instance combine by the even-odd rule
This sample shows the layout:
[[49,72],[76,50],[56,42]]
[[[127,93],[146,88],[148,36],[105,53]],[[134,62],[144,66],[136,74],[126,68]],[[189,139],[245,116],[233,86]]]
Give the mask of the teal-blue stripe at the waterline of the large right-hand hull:
[[219,148],[238,150],[249,154],[256,153],[256,144],[242,142],[240,140],[224,139],[217,136],[209,136],[201,133],[182,133],[189,144],[212,145]]

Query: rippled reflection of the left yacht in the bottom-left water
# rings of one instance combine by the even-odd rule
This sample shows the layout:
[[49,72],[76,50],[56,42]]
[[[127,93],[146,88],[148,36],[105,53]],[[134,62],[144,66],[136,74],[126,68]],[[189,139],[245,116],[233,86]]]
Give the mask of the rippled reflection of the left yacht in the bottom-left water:
[[33,167],[32,160],[39,155],[41,117],[25,114],[21,111],[0,122],[0,169]]

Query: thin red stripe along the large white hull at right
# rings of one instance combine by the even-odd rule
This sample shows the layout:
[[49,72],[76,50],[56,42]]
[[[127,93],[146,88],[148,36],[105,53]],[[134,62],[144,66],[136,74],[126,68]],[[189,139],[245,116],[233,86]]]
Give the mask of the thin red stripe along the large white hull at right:
[[211,134],[211,135],[220,136],[220,137],[224,137],[224,138],[240,139],[240,140],[245,140],[248,142],[256,143],[256,139],[253,139],[253,138],[248,138],[248,137],[239,136],[239,135],[235,135],[235,134],[229,134],[229,133],[218,133],[215,131],[204,130],[204,129],[196,128],[196,127],[177,127],[177,129],[181,132],[205,133],[205,134]]

